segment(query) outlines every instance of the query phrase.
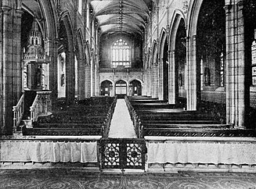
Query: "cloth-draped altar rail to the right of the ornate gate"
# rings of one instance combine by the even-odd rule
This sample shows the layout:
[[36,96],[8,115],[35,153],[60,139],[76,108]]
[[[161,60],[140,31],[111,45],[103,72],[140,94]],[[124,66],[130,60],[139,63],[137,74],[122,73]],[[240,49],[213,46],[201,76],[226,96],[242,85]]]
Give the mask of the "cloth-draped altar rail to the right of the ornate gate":
[[256,172],[252,137],[145,137],[147,172]]

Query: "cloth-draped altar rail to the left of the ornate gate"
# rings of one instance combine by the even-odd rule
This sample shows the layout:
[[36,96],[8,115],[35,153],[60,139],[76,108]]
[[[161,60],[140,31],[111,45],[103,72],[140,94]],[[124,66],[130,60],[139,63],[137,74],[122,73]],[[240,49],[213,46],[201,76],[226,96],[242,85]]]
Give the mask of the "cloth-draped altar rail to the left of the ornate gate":
[[0,168],[99,170],[101,136],[86,137],[2,137]]

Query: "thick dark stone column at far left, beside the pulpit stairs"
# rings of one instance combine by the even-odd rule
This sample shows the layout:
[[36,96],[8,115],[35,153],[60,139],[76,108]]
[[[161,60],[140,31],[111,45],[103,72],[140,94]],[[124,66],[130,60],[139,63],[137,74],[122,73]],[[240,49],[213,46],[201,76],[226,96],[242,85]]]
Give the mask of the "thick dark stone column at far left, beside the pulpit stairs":
[[[17,2],[18,3],[18,2]],[[22,91],[21,16],[22,11],[2,3],[0,11],[0,132],[12,134],[13,105]],[[14,5],[16,7],[16,5]]]

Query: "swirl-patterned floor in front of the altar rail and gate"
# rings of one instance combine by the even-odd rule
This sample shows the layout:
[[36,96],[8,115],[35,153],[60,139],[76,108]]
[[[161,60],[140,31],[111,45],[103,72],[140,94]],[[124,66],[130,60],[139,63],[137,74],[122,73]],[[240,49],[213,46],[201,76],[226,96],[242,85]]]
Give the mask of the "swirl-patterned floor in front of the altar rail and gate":
[[0,188],[228,188],[255,189],[256,173],[85,173],[1,170]]

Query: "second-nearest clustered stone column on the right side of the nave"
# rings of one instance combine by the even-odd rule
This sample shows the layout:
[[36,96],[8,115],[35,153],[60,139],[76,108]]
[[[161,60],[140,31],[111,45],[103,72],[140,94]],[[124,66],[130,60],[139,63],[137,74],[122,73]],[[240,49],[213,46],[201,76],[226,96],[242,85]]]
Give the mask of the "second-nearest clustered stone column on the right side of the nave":
[[187,37],[187,91],[186,109],[197,110],[197,37]]

